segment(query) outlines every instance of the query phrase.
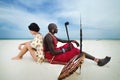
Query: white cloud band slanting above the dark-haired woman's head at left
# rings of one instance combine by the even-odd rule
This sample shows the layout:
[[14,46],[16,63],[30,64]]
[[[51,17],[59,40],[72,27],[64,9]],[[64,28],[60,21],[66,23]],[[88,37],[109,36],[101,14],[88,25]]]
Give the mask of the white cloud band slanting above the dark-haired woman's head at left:
[[6,20],[18,27],[28,26],[31,22],[36,22],[44,28],[45,24],[54,21],[44,14],[31,14],[17,8],[0,8],[0,19]]

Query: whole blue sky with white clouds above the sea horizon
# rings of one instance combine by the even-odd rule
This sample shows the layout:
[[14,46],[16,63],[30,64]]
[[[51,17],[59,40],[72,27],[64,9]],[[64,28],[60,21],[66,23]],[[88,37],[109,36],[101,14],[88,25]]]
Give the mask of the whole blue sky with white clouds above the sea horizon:
[[28,25],[37,23],[43,36],[56,23],[56,36],[79,38],[80,15],[84,39],[120,39],[120,0],[0,0],[0,38],[32,38]]

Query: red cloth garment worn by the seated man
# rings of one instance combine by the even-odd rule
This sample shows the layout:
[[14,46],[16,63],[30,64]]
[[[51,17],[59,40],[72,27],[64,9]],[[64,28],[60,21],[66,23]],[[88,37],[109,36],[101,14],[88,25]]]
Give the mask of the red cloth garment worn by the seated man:
[[[53,37],[53,43],[55,50],[62,50],[62,48],[67,48],[69,46],[69,43],[66,43],[65,45],[57,48],[57,39]],[[52,56],[50,52],[45,52],[45,58],[50,62],[51,64],[64,64],[67,63],[70,59],[72,59],[75,55],[80,54],[80,50],[75,48],[72,43],[72,49],[70,51],[67,51],[62,54],[58,54],[55,56]]]

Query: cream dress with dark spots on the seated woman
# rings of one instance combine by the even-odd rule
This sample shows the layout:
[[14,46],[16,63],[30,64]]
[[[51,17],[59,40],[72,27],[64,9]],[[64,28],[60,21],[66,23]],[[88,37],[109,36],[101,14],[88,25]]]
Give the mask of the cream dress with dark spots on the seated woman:
[[39,60],[44,59],[43,37],[41,34],[35,35],[35,38],[31,42],[31,47],[35,49],[35,54]]

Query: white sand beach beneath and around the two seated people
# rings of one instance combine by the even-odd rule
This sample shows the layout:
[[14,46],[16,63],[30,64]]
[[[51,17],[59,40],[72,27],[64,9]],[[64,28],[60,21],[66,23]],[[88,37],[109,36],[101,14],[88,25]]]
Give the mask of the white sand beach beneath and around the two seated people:
[[[57,80],[63,65],[37,64],[29,52],[22,60],[11,60],[24,41],[28,40],[0,40],[0,80]],[[74,73],[64,80],[120,80],[120,40],[83,40],[83,51],[98,58],[112,58],[103,67],[85,59],[81,75]]]

